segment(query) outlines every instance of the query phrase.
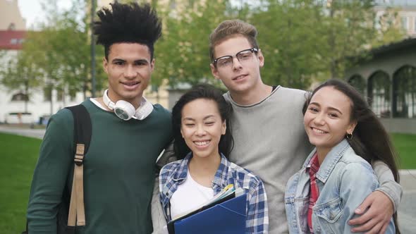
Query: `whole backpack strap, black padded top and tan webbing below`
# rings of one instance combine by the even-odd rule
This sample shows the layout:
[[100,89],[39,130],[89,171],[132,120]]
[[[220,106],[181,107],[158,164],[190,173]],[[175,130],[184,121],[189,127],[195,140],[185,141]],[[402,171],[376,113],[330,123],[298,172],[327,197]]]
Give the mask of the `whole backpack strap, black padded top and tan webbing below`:
[[[68,106],[73,113],[74,120],[74,172],[73,184],[71,191],[71,202],[69,204],[68,226],[85,226],[85,208],[84,208],[84,156],[90,147],[92,135],[92,125],[90,113],[85,106]],[[75,225],[76,221],[76,225]]]

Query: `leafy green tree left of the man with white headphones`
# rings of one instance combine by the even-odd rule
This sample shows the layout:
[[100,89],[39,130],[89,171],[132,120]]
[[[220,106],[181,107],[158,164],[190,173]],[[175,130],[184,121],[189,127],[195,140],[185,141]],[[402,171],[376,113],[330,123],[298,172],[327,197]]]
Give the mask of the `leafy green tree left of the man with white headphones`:
[[59,90],[61,95],[81,91],[90,59],[86,32],[82,31],[85,27],[76,18],[79,12],[76,7],[80,6],[74,4],[71,10],[60,13],[55,4],[49,3],[44,5],[47,22],[39,25],[39,32],[27,33],[23,51],[35,58],[31,63],[42,72],[44,91],[50,95],[51,113],[54,113],[51,90]]

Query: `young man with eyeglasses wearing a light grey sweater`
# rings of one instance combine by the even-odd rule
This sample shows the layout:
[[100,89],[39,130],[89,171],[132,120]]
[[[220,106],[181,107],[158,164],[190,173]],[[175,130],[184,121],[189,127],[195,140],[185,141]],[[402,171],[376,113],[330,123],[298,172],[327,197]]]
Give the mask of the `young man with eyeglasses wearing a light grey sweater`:
[[[264,181],[269,232],[288,233],[283,199],[286,183],[312,149],[302,124],[305,91],[262,82],[264,56],[256,37],[256,28],[241,20],[220,23],[209,37],[210,67],[212,75],[228,88],[224,97],[233,106],[235,144],[230,160]],[[353,231],[384,232],[398,207],[401,187],[384,168],[374,166],[381,187],[356,211],[362,216],[350,221],[358,225],[351,226]]]

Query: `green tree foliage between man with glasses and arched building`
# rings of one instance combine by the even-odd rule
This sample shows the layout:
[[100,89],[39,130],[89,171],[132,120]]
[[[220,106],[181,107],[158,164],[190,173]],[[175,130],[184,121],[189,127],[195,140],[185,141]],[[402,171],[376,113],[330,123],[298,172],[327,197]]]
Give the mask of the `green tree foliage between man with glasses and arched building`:
[[[264,0],[247,20],[259,31],[262,79],[307,89],[314,80],[343,78],[377,42],[400,38],[393,25],[379,33],[374,1]],[[355,59],[351,59],[355,58]]]

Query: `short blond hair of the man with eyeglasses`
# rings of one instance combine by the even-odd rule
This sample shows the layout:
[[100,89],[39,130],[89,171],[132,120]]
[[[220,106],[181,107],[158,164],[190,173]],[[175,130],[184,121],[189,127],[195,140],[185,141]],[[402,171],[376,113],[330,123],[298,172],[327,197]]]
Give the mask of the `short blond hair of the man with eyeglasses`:
[[241,35],[245,37],[254,48],[259,48],[257,45],[257,29],[250,23],[245,23],[243,20],[224,20],[216,29],[209,35],[209,57],[214,61],[214,47],[223,42],[225,39]]

